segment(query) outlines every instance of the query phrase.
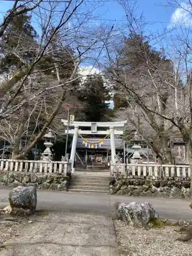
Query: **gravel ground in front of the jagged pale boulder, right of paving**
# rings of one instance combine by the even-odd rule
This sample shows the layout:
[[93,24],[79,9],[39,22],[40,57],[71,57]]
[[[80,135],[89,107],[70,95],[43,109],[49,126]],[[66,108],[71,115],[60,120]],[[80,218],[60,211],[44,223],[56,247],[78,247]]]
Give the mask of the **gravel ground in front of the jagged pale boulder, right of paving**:
[[[135,228],[114,221],[120,256],[192,256],[192,241],[178,241],[181,227]],[[185,234],[186,236],[186,234]]]

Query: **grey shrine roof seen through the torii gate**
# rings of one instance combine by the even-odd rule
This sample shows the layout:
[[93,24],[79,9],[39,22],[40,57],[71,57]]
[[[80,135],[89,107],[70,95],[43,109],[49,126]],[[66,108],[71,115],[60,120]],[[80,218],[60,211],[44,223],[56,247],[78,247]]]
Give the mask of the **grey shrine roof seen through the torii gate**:
[[[95,142],[95,141],[99,141],[101,140],[102,138],[89,138],[89,139],[86,139],[87,141],[90,142]],[[77,139],[77,146],[76,148],[89,148],[88,146],[86,146],[86,144],[83,144],[83,139],[81,138],[78,138]],[[72,146],[72,143],[70,145],[70,147]],[[97,148],[99,149],[105,149],[105,150],[111,150],[111,141],[110,139],[104,139],[103,140],[103,145],[99,146],[99,143],[97,144]],[[121,139],[116,139],[115,140],[115,148],[116,150],[123,150],[123,140]]]

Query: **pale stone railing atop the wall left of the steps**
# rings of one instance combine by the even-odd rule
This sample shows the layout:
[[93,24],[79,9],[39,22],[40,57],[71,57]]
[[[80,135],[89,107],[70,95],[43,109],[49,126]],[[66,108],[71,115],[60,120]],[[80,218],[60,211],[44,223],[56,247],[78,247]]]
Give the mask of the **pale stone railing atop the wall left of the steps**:
[[71,173],[71,163],[61,161],[31,161],[31,160],[13,160],[0,159],[1,172],[25,172],[39,174],[63,174]]

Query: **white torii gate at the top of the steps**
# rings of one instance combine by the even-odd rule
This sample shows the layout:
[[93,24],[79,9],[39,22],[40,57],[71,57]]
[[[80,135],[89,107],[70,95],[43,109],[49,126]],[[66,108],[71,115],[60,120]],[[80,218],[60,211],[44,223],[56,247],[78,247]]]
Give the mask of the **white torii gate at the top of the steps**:
[[[61,119],[64,125],[68,125],[68,120]],[[123,131],[117,131],[114,127],[123,127],[127,121],[119,121],[119,122],[80,122],[74,121],[69,126],[73,126],[73,130],[69,130],[69,134],[73,134],[73,142],[71,147],[71,156],[70,161],[72,164],[72,173],[75,171],[74,169],[74,161],[75,161],[75,153],[76,153],[76,145],[77,145],[77,138],[78,134],[97,134],[97,135],[110,135],[111,139],[111,160],[112,163],[115,163],[115,136],[114,135],[121,135]],[[91,127],[90,131],[79,130],[79,127]],[[109,127],[109,130],[106,131],[97,131],[97,127]],[[67,130],[65,131],[67,133]]]

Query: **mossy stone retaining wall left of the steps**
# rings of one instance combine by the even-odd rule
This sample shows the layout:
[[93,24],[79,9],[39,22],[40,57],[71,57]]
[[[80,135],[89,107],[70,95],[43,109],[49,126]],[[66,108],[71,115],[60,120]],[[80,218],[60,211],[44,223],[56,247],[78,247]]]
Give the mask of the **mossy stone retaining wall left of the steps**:
[[35,185],[38,189],[67,191],[70,176],[62,174],[39,174],[39,173],[0,173],[0,186],[17,187]]

